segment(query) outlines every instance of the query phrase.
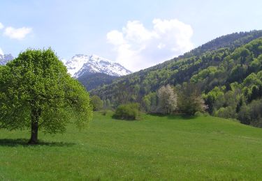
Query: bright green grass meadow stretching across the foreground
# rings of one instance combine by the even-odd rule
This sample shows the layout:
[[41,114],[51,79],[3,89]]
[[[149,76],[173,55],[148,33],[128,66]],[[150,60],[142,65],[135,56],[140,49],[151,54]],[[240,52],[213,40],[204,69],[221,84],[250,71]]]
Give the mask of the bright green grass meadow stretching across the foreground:
[[95,113],[82,132],[0,131],[0,180],[262,180],[262,129],[213,117]]

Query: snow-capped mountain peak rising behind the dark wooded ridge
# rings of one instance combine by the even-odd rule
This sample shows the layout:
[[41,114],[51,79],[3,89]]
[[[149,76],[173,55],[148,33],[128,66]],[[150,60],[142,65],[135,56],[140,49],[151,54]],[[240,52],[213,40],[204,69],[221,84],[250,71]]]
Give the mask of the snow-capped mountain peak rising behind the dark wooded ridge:
[[131,71],[119,63],[114,63],[97,55],[76,54],[65,63],[68,72],[75,78],[85,73],[105,73],[112,76],[130,74]]

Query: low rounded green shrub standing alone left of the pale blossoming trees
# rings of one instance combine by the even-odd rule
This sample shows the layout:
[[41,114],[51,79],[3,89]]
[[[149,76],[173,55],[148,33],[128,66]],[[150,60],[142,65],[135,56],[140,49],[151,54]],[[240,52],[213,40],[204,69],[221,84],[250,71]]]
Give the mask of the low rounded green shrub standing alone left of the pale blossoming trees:
[[113,118],[121,120],[137,120],[139,115],[139,105],[137,103],[122,104],[117,107]]

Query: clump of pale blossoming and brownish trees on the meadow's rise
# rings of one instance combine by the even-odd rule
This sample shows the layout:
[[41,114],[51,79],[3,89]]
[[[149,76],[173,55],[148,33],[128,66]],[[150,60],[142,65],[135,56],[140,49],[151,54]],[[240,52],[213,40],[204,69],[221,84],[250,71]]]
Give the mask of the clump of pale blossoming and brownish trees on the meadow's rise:
[[143,104],[145,111],[163,114],[179,112],[192,116],[197,111],[203,112],[207,109],[198,87],[191,83],[176,87],[169,84],[162,86],[156,94],[150,95],[150,99],[145,96]]

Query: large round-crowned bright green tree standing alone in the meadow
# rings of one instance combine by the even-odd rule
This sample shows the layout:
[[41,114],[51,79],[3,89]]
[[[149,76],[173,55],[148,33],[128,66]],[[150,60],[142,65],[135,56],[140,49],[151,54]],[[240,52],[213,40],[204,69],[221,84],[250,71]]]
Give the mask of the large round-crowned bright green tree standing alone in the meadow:
[[52,49],[27,49],[0,68],[0,128],[29,128],[34,144],[38,129],[56,134],[71,121],[82,128],[91,119],[89,94]]

